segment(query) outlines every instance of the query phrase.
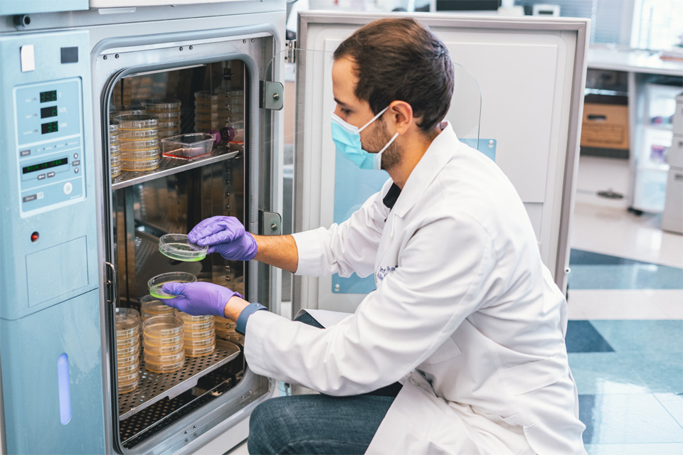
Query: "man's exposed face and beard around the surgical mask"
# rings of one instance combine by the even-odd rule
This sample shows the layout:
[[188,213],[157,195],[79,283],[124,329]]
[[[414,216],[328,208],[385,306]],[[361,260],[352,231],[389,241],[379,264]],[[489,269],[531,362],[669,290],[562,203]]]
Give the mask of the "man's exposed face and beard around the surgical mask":
[[[342,57],[334,60],[332,64],[332,93],[337,107],[334,113],[344,122],[354,127],[362,128],[372,117],[375,117],[367,101],[356,98],[356,83],[358,78],[355,74],[354,60]],[[385,112],[389,115],[389,112]],[[392,134],[388,132],[383,116],[372,122],[361,132],[361,145],[363,149],[371,153],[380,151]],[[396,166],[400,161],[401,151],[398,149],[396,141],[391,144],[382,154],[382,168],[388,169]]]

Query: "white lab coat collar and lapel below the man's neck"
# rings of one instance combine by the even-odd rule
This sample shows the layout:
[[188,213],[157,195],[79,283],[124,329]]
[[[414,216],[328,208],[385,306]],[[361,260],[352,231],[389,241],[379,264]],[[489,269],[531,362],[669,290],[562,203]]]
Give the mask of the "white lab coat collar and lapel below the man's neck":
[[460,144],[450,122],[446,123],[446,127],[435,137],[411,175],[408,176],[401,196],[396,200],[396,205],[393,206],[393,212],[401,218],[418,202],[427,186],[452,158],[456,147]]

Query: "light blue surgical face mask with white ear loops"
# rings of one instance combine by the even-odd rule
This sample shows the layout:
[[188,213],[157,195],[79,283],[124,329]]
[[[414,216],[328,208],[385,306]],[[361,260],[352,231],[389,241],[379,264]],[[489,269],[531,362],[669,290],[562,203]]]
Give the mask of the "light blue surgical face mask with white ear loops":
[[394,134],[391,141],[388,141],[383,149],[377,153],[365,151],[363,150],[363,146],[361,146],[361,131],[378,119],[388,108],[389,107],[387,106],[382,109],[379,114],[373,117],[370,122],[367,122],[362,128],[354,127],[353,125],[344,122],[337,114],[332,112],[332,140],[334,141],[334,145],[337,146],[337,150],[342,152],[346,158],[353,161],[353,163],[361,169],[379,171],[382,166],[382,152],[391,145],[396,137],[398,137],[398,133]]

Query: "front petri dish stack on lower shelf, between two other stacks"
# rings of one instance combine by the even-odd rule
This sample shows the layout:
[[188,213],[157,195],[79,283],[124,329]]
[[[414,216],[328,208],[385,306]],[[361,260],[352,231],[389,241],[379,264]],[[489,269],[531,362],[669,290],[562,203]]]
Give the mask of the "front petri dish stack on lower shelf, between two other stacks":
[[172,373],[185,363],[184,323],[174,316],[154,316],[142,323],[144,366],[154,373]]

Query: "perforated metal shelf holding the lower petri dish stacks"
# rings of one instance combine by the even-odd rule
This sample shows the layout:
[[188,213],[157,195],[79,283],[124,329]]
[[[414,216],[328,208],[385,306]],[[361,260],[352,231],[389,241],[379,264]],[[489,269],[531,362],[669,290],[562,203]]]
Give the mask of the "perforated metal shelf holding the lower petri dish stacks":
[[240,354],[229,341],[216,340],[216,350],[203,357],[186,357],[185,365],[174,373],[152,373],[144,368],[140,355],[140,383],[135,390],[119,395],[119,419],[154,405],[162,398],[174,398],[197,385],[202,376],[225,365]]

